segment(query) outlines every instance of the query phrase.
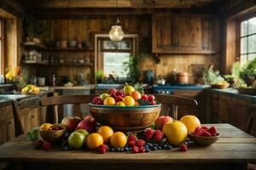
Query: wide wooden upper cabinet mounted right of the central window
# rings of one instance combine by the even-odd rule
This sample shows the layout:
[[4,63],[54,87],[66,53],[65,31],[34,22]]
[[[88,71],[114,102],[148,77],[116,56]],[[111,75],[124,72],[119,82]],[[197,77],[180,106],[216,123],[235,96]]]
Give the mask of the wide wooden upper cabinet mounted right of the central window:
[[158,54],[215,54],[218,19],[195,14],[154,14],[152,51]]

